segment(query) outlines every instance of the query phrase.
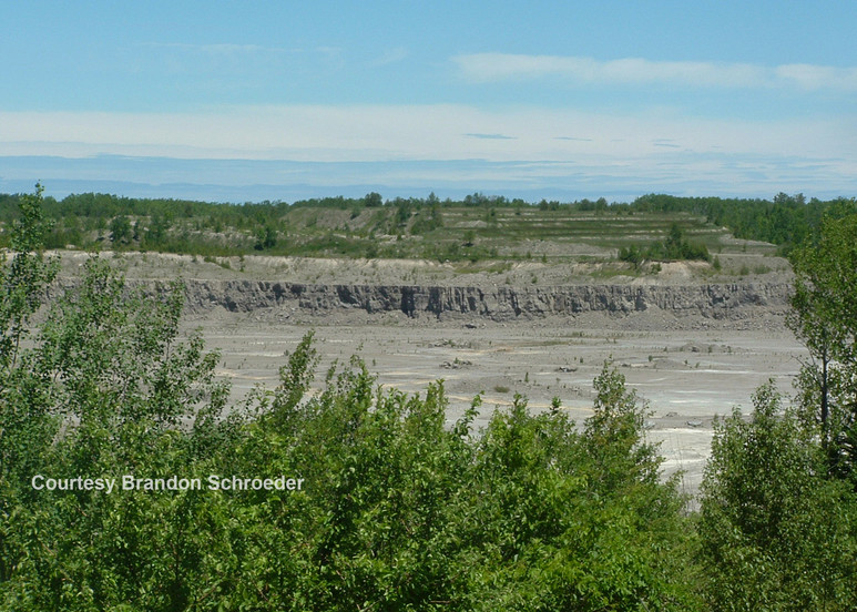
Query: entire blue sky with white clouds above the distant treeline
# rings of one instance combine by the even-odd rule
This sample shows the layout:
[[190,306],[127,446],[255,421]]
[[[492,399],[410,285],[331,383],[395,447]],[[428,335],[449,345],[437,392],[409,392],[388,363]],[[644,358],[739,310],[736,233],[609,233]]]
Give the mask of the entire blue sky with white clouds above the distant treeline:
[[0,192],[857,195],[857,2],[0,0]]

